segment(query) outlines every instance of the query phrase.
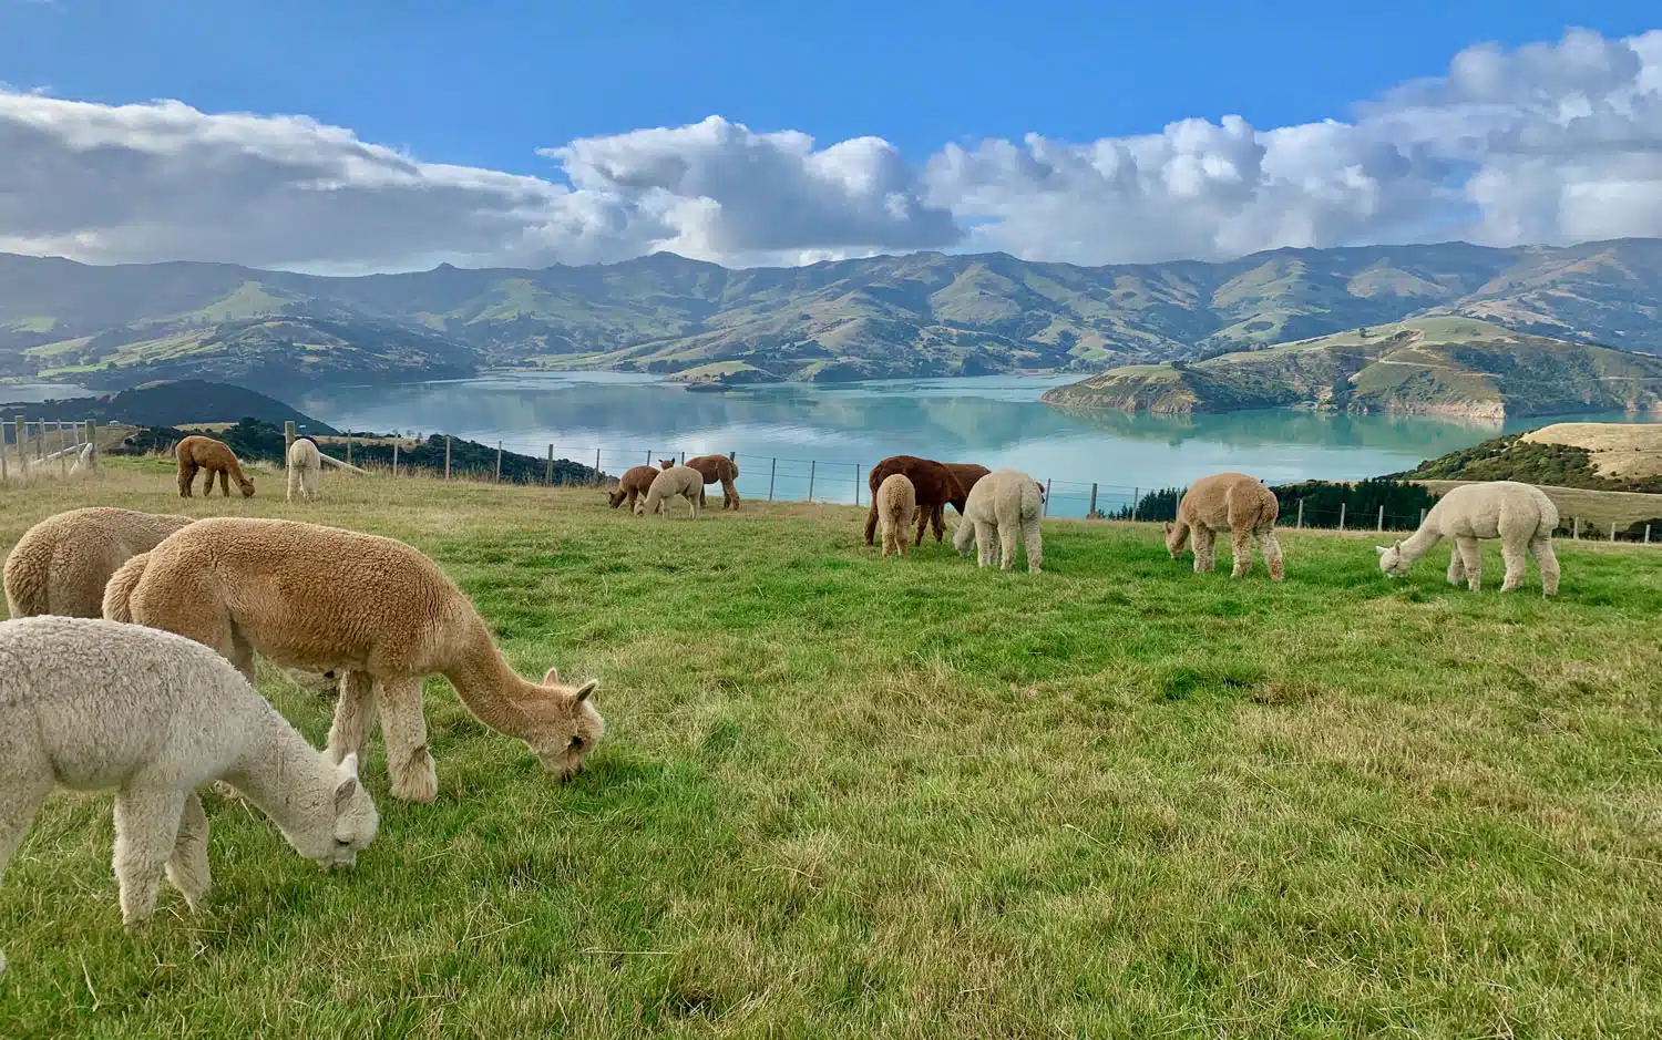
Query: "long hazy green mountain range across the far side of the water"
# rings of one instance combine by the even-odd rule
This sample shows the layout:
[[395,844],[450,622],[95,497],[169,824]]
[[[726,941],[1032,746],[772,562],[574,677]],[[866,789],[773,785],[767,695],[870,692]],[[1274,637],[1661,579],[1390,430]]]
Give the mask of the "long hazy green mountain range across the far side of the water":
[[362,277],[0,254],[0,375],[293,389],[482,367],[622,369],[708,385],[1090,372],[1434,316],[1662,354],[1659,301],[1657,239],[1276,249],[1107,267],[919,253],[730,271],[660,253]]

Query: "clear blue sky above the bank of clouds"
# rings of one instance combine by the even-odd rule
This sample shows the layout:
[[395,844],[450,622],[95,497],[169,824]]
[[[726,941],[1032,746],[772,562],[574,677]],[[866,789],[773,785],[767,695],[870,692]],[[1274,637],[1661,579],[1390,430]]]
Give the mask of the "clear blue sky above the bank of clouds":
[[[304,113],[429,161],[708,115],[823,141],[1084,141],[1185,116],[1346,118],[1458,50],[1625,37],[1655,3],[0,0],[0,80],[88,101]],[[1572,18],[1566,18],[1572,15]]]

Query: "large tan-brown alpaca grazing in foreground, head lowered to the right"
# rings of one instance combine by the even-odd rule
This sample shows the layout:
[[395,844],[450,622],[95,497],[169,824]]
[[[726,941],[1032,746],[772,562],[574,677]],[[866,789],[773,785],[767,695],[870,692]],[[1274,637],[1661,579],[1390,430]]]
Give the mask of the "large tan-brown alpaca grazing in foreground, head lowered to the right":
[[550,668],[522,679],[472,601],[402,542],[291,520],[198,520],[110,578],[103,611],[213,646],[253,681],[254,653],[341,675],[329,753],[362,758],[381,709],[392,794],[430,802],[422,678],[442,675],[475,719],[530,746],[563,778],[605,726],[598,683],[565,686]]

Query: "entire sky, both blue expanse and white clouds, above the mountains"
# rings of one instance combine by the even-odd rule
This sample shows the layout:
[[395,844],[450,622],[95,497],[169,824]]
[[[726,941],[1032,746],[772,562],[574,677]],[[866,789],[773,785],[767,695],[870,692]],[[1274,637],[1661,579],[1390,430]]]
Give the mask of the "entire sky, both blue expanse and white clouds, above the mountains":
[[1652,8],[0,0],[0,249],[344,271],[1662,234]]

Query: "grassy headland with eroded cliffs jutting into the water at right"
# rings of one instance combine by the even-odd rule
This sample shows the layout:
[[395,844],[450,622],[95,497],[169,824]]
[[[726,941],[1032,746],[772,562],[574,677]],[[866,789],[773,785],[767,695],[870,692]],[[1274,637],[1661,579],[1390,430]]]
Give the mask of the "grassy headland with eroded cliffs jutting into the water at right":
[[1662,410],[1662,357],[1421,317],[1222,354],[1127,365],[1045,392],[1062,407],[1237,412],[1331,407],[1504,419]]

